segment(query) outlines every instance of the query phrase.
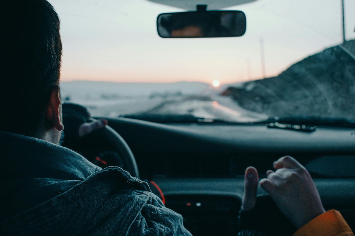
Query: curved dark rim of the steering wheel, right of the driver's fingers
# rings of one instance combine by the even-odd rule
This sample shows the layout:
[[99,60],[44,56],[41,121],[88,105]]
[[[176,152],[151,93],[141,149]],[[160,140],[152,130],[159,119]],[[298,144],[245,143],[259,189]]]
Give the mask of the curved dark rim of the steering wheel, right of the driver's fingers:
[[[95,119],[90,118],[91,121]],[[108,141],[114,146],[114,149],[118,151],[119,155],[125,162],[125,171],[129,172],[133,177],[139,177],[139,171],[136,159],[132,150],[126,143],[126,141],[110,126],[98,130],[102,135],[108,139]]]

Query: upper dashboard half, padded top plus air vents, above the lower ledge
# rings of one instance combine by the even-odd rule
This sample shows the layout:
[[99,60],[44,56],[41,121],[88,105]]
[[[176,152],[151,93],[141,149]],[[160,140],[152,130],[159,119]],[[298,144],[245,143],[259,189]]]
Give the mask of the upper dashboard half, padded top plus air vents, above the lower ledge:
[[313,177],[355,177],[354,128],[301,132],[262,124],[164,125],[125,118],[109,124],[129,144],[143,178],[237,177],[251,165],[263,175],[285,155],[294,156]]

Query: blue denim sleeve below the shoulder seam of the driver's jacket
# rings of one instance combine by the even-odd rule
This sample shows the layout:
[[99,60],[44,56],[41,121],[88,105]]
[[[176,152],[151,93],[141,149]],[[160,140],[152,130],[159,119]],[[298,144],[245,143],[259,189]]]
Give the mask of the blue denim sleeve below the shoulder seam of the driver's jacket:
[[192,236],[185,229],[180,214],[166,208],[156,195],[149,194],[149,200],[131,224],[128,236]]

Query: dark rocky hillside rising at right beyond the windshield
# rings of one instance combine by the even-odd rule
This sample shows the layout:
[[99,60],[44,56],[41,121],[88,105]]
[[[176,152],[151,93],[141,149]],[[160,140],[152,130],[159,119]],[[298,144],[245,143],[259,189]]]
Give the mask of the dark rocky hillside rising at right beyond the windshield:
[[309,56],[276,77],[228,87],[222,95],[271,116],[355,119],[355,40]]

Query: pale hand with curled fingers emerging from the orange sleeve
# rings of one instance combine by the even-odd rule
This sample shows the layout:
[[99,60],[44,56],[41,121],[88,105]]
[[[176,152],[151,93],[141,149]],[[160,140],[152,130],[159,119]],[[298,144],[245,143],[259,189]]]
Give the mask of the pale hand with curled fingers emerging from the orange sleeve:
[[276,171],[268,171],[260,186],[297,229],[325,212],[316,185],[304,166],[290,156],[281,157],[273,165]]

